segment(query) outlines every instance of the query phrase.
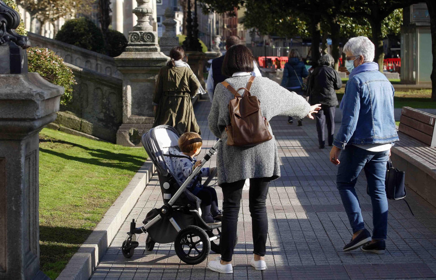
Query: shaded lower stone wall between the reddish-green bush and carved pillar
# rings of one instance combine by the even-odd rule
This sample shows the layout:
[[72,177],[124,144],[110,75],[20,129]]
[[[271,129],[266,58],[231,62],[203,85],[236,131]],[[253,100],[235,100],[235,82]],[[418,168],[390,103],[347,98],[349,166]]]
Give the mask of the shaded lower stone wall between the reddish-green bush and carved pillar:
[[77,85],[55,123],[114,143],[123,120],[122,80],[65,64],[73,70]]

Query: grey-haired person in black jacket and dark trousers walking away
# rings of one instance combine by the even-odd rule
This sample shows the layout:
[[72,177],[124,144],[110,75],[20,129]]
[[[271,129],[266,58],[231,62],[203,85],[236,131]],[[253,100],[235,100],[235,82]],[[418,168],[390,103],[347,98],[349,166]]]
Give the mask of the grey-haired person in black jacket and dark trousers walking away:
[[335,89],[342,87],[341,77],[333,69],[334,62],[331,55],[323,55],[318,60],[318,66],[313,70],[308,81],[309,103],[312,105],[321,103],[321,110],[315,115],[320,149],[326,145],[324,136],[326,122],[328,146],[333,145],[335,112],[336,105],[338,105]]

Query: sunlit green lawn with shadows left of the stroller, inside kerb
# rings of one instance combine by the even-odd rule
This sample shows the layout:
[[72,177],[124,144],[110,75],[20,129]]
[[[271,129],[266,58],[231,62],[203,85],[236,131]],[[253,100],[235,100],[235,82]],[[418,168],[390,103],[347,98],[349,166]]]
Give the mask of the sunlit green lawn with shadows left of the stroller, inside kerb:
[[49,129],[39,137],[41,270],[55,279],[147,155]]

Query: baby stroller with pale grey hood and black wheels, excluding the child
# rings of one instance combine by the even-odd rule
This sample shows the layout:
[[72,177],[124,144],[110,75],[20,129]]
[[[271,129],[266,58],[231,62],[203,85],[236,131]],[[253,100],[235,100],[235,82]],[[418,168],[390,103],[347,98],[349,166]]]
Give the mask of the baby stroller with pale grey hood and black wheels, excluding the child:
[[[164,205],[151,210],[143,226],[137,228],[135,220],[130,223],[130,232],[121,247],[126,258],[133,256],[135,248],[139,246],[136,235],[141,233],[148,233],[145,242],[147,251],[153,251],[156,243],[174,242],[177,256],[189,265],[200,264],[211,249],[220,253],[221,224],[208,225],[203,221],[199,213],[201,200],[186,188],[192,180],[200,179],[197,176],[200,169],[216,153],[221,140],[210,148],[201,166],[195,168],[185,182],[180,182],[174,176],[173,168],[175,159],[180,157],[178,139],[177,131],[167,125],[157,126],[142,135],[142,145],[156,165]],[[216,176],[216,171],[203,185]]]

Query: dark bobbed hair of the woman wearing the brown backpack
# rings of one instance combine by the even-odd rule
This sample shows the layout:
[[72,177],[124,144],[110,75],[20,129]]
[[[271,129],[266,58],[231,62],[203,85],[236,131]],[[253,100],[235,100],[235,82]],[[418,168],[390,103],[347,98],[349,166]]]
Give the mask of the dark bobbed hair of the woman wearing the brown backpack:
[[253,54],[248,47],[242,44],[234,45],[227,50],[224,56],[221,72],[229,77],[236,72],[253,72],[253,60]]

